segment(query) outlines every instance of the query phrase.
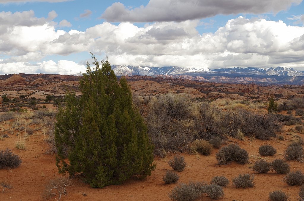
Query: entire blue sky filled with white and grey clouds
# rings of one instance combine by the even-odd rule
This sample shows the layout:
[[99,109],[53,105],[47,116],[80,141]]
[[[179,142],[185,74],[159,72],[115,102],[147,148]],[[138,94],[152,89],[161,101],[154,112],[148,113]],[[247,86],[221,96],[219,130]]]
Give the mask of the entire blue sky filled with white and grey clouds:
[[302,0],[0,0],[0,74],[92,62],[304,70]]

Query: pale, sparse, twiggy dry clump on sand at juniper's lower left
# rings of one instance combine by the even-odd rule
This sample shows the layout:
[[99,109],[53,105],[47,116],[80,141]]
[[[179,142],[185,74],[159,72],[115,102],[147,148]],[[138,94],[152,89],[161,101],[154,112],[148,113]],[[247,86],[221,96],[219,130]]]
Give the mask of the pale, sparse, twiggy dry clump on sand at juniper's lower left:
[[44,191],[44,197],[46,199],[51,199],[54,196],[60,200],[62,195],[67,195],[67,186],[71,186],[72,182],[71,179],[67,177],[60,177],[57,179],[52,179],[50,182],[47,183]]

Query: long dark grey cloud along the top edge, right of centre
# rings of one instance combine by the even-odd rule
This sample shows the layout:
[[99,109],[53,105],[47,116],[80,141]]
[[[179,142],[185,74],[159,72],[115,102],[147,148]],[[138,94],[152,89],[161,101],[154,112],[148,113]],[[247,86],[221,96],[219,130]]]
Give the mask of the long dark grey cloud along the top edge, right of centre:
[[218,14],[276,14],[301,2],[302,0],[150,0],[146,6],[134,9],[116,2],[105,10],[101,18],[109,22],[181,22]]

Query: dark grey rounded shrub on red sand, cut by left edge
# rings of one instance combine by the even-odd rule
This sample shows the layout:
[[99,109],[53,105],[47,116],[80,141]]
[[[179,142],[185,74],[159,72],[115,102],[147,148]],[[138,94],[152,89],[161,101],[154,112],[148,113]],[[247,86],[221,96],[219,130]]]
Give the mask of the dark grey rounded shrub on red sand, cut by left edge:
[[20,157],[14,154],[11,149],[0,150],[0,169],[16,168],[19,167],[21,162]]

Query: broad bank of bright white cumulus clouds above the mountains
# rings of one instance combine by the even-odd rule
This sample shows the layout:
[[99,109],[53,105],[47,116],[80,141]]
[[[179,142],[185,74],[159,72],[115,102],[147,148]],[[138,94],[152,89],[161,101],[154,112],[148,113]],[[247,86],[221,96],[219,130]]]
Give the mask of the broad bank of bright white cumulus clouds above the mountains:
[[[196,29],[201,24],[199,20],[155,22],[144,27],[130,22],[118,25],[103,22],[84,32],[65,32],[57,30],[47,19],[36,18],[32,11],[2,12],[0,17],[3,22],[0,24],[0,51],[8,58],[0,62],[2,73],[9,73],[10,69],[11,73],[15,72],[13,69],[61,74],[78,70],[79,73],[80,65],[76,63],[49,61],[32,65],[28,62],[40,61],[49,55],[88,51],[108,55],[112,64],[211,69],[230,66],[304,68],[304,27],[288,26],[282,21],[238,17],[215,33],[201,35]],[[22,21],[25,17],[29,22]]]

